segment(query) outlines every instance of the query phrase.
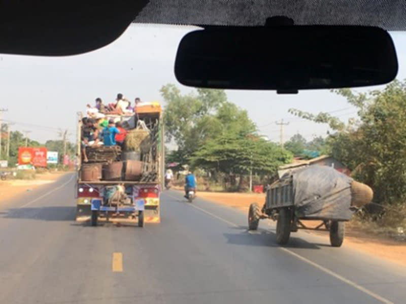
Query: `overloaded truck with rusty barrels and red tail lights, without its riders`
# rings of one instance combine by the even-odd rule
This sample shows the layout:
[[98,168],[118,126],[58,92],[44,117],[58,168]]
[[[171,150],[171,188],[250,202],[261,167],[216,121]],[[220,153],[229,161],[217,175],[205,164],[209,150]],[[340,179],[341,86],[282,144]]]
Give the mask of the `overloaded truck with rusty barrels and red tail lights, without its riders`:
[[[163,189],[163,124],[159,105],[138,107],[127,115],[105,114],[103,119],[121,122],[127,134],[120,146],[84,147],[83,114],[78,113],[76,220],[138,223],[160,222]],[[103,141],[101,141],[103,142]]]

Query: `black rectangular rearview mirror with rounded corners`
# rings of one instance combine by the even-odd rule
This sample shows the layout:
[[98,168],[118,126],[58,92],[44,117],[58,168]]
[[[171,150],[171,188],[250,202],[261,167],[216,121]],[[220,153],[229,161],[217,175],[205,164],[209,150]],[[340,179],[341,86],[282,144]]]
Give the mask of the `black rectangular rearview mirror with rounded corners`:
[[379,85],[397,74],[388,32],[368,26],[214,26],[180,42],[175,75],[187,86],[295,92]]

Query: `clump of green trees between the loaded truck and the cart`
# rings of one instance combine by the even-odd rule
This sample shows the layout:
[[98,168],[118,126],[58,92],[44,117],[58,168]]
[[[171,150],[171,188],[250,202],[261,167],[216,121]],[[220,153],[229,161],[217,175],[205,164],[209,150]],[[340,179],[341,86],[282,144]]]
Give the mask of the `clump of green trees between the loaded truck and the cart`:
[[161,88],[165,100],[165,131],[177,151],[167,162],[190,163],[207,172],[275,173],[292,159],[289,151],[260,139],[247,111],[227,101],[223,90],[197,89],[182,95],[172,84]]

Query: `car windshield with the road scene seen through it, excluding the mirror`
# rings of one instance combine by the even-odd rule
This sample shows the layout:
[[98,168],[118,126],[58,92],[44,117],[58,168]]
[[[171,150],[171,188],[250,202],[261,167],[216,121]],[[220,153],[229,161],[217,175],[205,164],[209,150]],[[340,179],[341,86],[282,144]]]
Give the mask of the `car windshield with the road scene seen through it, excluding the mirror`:
[[390,84],[277,94],[178,83],[195,28],[0,54],[0,302],[403,302],[405,33]]

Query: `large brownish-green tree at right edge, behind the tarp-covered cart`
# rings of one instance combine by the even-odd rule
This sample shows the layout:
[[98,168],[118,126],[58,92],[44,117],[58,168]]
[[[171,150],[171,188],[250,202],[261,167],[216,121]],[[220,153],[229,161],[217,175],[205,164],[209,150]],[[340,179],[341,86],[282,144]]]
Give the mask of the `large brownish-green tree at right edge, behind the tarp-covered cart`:
[[391,204],[406,198],[406,81],[393,81],[383,90],[333,92],[347,98],[359,119],[347,123],[327,113],[291,113],[328,123],[335,131],[327,139],[332,155],[343,161],[353,176],[374,189],[374,200]]

